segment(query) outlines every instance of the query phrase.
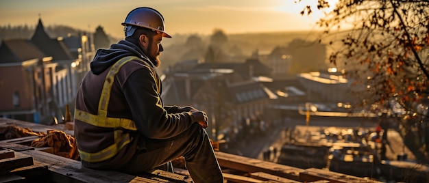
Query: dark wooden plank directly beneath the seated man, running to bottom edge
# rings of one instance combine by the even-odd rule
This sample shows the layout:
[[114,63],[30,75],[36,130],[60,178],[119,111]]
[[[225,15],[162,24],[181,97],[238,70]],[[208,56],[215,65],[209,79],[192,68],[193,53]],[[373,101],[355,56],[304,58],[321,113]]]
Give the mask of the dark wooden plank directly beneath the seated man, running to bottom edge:
[[[82,167],[77,160],[64,158],[41,151],[23,151],[35,161],[48,165],[50,180],[53,182],[166,182],[141,178],[118,171],[100,171]],[[168,181],[167,181],[168,182]]]

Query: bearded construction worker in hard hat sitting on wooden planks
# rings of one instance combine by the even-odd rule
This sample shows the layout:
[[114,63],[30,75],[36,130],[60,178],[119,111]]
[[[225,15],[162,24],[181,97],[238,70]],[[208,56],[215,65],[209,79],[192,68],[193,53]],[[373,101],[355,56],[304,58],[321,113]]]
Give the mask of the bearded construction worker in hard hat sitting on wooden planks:
[[79,86],[74,135],[84,167],[132,175],[184,157],[194,182],[223,182],[204,111],[164,106],[156,72],[164,18],[153,8],[127,14],[125,40],[97,51]]

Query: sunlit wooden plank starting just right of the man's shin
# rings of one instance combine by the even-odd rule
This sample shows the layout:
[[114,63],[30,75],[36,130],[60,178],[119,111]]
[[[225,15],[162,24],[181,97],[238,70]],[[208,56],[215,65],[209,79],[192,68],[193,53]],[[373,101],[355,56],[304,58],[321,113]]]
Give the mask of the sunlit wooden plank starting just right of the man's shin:
[[271,163],[254,158],[247,158],[224,152],[215,152],[221,167],[236,169],[245,172],[265,172],[282,178],[299,181],[299,173],[304,169],[289,167],[277,163]]

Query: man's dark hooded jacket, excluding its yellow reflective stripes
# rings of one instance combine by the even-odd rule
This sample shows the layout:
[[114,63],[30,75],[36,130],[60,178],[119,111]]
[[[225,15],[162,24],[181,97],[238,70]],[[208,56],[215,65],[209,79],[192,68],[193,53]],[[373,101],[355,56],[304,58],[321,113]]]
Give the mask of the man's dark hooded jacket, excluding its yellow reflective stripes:
[[[100,94],[108,69],[119,59],[136,56],[121,67],[114,77],[108,105],[108,117],[132,119],[138,131],[101,128],[75,120],[77,147],[84,152],[99,152],[112,145],[114,130],[128,133],[132,142],[109,160],[100,163],[82,161],[85,167],[115,169],[123,166],[134,153],[145,150],[145,141],[169,139],[191,127],[189,113],[176,113],[178,107],[164,107],[162,104],[162,84],[156,68],[140,48],[125,40],[112,44],[109,49],[97,51],[90,64],[91,71],[86,74],[79,86],[75,108],[97,115]],[[143,63],[145,61],[146,63]]]

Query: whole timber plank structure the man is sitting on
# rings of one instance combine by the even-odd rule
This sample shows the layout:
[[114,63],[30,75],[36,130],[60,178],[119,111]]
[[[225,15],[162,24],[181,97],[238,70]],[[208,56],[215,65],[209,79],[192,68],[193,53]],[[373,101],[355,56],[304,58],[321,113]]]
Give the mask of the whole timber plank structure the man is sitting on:
[[[33,132],[58,130],[55,126],[0,118],[0,127],[9,125],[29,128]],[[186,169],[177,167],[174,173],[154,170],[138,176],[87,169],[79,160],[50,153],[55,151],[52,150],[54,147],[29,146],[38,138],[29,136],[0,141],[0,182],[193,182]],[[326,169],[299,169],[219,151],[215,153],[225,182],[378,182]]]

